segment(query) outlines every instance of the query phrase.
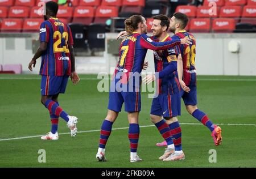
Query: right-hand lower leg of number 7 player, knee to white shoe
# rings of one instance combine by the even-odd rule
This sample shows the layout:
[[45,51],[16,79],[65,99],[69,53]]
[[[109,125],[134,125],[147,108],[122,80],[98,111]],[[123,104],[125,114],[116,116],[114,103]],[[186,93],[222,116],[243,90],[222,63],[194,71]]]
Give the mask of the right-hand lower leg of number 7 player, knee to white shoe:
[[142,161],[137,155],[139,142],[139,112],[127,112],[129,121],[128,138],[130,140],[130,162]]

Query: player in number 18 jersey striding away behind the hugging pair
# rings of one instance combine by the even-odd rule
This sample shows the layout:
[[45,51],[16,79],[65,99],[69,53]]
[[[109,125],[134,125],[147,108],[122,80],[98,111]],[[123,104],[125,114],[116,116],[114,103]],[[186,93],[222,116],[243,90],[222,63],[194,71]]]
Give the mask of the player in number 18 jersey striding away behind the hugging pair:
[[187,23],[187,15],[180,12],[176,12],[172,16],[170,22],[170,31],[175,33],[174,36],[192,40],[192,44],[190,45],[178,45],[179,56],[177,59],[177,71],[179,75],[180,86],[182,88],[181,97],[184,101],[188,113],[195,117],[199,122],[203,123],[203,125],[208,127],[212,133],[214,144],[218,146],[222,141],[221,127],[214,125],[212,121],[209,120],[207,114],[197,108],[195,67],[196,39],[191,33],[185,31],[184,28],[186,27]]

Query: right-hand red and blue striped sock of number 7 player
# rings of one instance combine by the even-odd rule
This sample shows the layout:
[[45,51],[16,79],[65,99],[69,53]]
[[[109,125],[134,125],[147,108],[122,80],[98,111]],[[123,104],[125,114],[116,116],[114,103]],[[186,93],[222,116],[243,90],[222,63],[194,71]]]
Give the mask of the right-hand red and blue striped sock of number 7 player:
[[139,124],[130,123],[128,138],[130,140],[131,152],[137,152],[139,142]]

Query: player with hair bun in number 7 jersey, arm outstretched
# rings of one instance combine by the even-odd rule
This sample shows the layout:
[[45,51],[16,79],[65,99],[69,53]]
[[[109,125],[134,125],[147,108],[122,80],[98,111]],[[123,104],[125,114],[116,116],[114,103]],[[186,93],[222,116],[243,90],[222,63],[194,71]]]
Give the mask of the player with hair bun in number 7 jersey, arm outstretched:
[[[119,61],[114,71],[109,92],[108,114],[102,122],[100,144],[96,158],[106,161],[105,146],[112,131],[112,125],[122,104],[125,103],[129,125],[130,162],[142,161],[137,155],[139,140],[138,116],[141,110],[141,71],[147,49],[164,50],[177,44],[190,44],[189,40],[175,37],[166,42],[154,42],[147,33],[146,20],[141,15],[133,15],[125,20],[125,28],[129,34],[121,43]],[[139,79],[139,80],[138,80]]]

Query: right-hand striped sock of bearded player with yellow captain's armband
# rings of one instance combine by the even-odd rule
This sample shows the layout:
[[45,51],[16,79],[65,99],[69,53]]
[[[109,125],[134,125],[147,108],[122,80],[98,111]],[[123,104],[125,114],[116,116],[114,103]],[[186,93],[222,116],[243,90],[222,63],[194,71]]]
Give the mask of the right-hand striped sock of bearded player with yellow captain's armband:
[[179,121],[173,122],[169,124],[171,129],[172,140],[174,141],[175,151],[181,151],[181,128]]

